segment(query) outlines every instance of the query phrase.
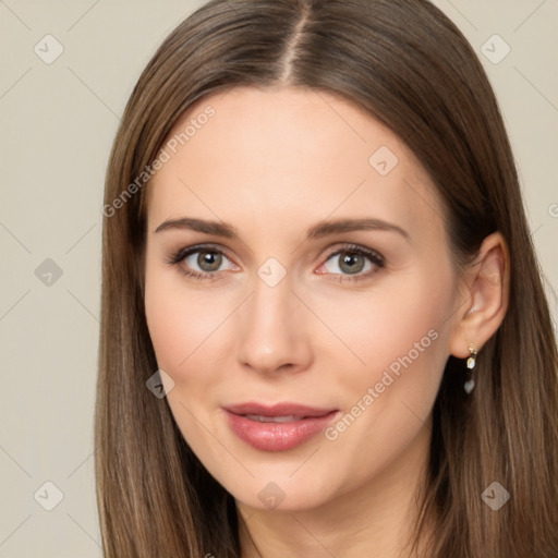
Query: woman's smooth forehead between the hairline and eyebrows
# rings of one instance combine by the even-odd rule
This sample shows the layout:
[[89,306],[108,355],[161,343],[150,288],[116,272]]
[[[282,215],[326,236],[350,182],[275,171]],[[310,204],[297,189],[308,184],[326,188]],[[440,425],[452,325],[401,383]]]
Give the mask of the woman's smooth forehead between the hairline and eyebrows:
[[291,229],[329,215],[440,226],[413,154],[329,93],[235,87],[208,96],[177,121],[163,149],[168,161],[147,189],[153,225],[186,213]]

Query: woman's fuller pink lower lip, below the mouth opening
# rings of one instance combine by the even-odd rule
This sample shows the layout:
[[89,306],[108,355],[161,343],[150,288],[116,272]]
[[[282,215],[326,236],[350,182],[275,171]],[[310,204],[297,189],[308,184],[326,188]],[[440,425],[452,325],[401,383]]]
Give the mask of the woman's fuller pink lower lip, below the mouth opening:
[[227,410],[226,414],[232,432],[253,448],[263,451],[286,451],[304,444],[322,432],[338,411],[291,423],[260,423]]

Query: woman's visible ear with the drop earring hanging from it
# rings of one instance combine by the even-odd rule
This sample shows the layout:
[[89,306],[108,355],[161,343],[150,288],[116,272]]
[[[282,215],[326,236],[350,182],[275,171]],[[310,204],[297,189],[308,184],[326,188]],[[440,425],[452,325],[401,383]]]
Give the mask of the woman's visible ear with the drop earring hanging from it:
[[493,337],[506,315],[510,283],[509,251],[499,232],[483,241],[475,260],[465,269],[461,300],[468,301],[454,315],[449,352],[469,356],[469,344],[478,352]]

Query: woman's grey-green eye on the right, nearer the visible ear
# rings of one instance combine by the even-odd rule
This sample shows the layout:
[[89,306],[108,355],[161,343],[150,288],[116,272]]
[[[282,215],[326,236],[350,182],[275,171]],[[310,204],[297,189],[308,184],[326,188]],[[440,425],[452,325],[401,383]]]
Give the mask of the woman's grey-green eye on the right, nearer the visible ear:
[[[385,267],[385,259],[376,251],[347,244],[333,253],[329,253],[326,263],[318,268],[325,268],[326,271],[318,270],[317,272],[337,275],[336,281],[359,281],[367,279],[383,267]],[[341,272],[336,272],[336,268],[340,269]]]

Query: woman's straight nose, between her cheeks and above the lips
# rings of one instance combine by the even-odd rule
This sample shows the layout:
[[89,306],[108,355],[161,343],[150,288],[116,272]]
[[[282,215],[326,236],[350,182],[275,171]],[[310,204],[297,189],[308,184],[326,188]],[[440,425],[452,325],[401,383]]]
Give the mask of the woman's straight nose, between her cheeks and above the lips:
[[256,277],[238,322],[238,360],[260,374],[300,373],[312,363],[308,312],[292,291],[289,274],[275,287]]

